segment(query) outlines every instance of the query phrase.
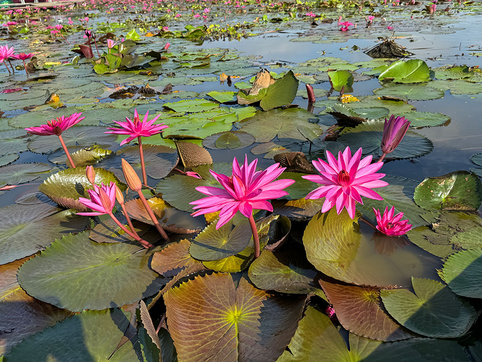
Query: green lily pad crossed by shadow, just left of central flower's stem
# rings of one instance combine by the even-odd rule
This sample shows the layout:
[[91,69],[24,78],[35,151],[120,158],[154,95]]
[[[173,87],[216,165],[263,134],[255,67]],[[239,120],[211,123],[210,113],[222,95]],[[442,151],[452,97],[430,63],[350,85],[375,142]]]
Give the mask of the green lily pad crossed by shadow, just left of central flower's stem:
[[233,224],[232,220],[216,230],[218,221],[208,225],[191,243],[189,252],[193,258],[211,261],[238,254],[246,248],[252,233],[246,218]]

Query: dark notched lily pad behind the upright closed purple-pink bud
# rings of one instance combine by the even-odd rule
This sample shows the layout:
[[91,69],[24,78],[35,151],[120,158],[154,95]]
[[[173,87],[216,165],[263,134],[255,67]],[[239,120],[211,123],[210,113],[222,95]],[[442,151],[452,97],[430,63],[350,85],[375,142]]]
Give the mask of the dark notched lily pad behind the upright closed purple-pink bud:
[[[381,156],[381,139],[383,136],[382,121],[367,121],[357,127],[345,131],[338,138],[338,141],[348,145],[352,150],[363,149],[363,154],[372,154],[375,157]],[[433,149],[432,142],[418,133],[407,131],[395,151],[389,154],[388,158],[409,159],[428,154]]]

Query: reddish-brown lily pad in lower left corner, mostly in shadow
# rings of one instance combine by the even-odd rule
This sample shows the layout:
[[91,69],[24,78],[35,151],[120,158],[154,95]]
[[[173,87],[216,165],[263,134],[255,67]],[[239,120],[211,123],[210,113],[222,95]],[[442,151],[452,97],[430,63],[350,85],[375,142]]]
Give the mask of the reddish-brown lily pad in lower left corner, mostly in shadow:
[[66,318],[70,312],[30,297],[17,282],[17,270],[26,259],[0,266],[0,355],[26,336]]

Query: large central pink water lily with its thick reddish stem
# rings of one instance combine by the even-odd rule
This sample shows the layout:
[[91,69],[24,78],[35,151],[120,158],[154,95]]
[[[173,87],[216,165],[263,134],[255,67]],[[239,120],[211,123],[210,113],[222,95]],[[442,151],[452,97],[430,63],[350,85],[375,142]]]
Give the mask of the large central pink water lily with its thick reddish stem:
[[193,209],[196,211],[191,214],[193,216],[220,211],[216,229],[231,220],[238,211],[246,216],[253,234],[255,258],[259,256],[260,250],[258,232],[252,215],[253,209],[273,211],[273,206],[268,200],[287,195],[288,192],[283,191],[283,188],[295,182],[289,179],[274,181],[285,168],[274,164],[264,171],[256,171],[257,162],[256,159],[248,164],[247,156],[245,156],[244,163],[240,166],[235,157],[231,177],[209,170],[223,188],[196,187],[196,190],[208,197],[190,202],[191,205],[195,205]]

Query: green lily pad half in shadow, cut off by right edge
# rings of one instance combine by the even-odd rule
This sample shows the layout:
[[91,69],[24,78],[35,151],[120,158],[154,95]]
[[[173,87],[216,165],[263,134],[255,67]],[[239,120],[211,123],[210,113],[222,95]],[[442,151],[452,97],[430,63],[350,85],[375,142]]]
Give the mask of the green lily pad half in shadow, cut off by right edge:
[[482,298],[482,250],[464,250],[447,257],[441,278],[458,295]]

